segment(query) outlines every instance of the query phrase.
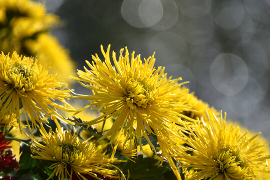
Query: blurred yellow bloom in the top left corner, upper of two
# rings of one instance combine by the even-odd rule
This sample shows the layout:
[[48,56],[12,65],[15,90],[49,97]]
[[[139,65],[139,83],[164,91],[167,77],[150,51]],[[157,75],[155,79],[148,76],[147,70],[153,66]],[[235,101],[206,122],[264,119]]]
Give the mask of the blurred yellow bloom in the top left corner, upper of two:
[[33,0],[0,1],[0,49],[5,53],[23,51],[23,41],[34,38],[39,32],[48,31],[59,24],[57,15],[47,14],[42,3]]

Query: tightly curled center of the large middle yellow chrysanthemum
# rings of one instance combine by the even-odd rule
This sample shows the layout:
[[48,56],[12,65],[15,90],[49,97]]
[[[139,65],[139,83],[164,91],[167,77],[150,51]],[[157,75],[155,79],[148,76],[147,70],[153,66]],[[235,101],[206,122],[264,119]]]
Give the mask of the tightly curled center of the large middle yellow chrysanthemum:
[[124,94],[128,104],[144,108],[149,105],[149,101],[152,99],[152,89],[144,81],[131,78],[126,85]]

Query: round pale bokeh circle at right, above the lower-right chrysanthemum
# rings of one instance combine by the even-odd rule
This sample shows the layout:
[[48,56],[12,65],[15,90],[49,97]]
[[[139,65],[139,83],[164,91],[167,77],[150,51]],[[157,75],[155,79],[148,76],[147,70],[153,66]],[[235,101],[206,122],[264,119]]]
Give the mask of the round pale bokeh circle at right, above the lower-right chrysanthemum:
[[213,86],[225,95],[240,92],[248,80],[248,69],[245,62],[231,53],[219,54],[210,66],[210,80]]

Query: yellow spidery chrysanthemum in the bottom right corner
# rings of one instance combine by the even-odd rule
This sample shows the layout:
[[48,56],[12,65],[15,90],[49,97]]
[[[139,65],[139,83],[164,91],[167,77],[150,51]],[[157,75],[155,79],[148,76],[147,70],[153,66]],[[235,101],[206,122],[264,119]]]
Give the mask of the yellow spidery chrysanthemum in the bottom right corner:
[[202,122],[187,136],[187,150],[178,158],[192,170],[189,180],[259,179],[259,172],[267,170],[270,155],[256,141],[259,133],[250,137],[214,114],[207,124]]

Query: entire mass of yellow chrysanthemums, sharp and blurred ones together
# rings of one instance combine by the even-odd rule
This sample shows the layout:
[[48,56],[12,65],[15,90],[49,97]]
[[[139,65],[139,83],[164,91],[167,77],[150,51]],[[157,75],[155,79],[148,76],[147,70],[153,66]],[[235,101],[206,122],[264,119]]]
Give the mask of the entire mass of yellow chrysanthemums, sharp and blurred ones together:
[[[140,153],[168,162],[178,180],[268,179],[268,141],[155,68],[154,54],[142,60],[126,47],[111,59],[110,45],[101,45],[103,57],[93,55],[75,76],[48,33],[59,23],[42,3],[0,0],[0,132],[30,138],[31,157],[49,164],[47,179],[128,179],[131,169],[123,174],[115,162],[135,162]],[[68,89],[69,75],[89,94]],[[89,103],[75,110],[70,98]]]

